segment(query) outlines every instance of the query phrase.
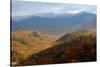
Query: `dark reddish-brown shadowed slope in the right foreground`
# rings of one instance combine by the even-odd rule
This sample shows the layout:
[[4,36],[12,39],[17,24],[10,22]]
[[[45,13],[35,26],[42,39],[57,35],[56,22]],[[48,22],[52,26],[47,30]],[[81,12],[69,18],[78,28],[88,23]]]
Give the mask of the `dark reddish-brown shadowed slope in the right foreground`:
[[52,47],[30,55],[16,65],[39,65],[96,61],[96,32],[72,32],[58,38]]

